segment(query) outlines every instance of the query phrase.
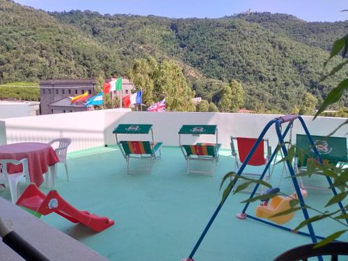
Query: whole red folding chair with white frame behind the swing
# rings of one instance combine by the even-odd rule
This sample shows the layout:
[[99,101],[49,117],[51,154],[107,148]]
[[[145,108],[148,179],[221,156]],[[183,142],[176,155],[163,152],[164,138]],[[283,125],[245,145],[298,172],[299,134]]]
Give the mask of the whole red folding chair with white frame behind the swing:
[[[244,138],[244,137],[234,137],[231,136],[231,152],[232,156],[235,157],[235,173],[239,170],[239,167],[245,161],[248,153],[258,139],[254,138]],[[235,142],[237,142],[237,148],[235,148]],[[271,146],[269,145],[268,139],[262,139],[258,148],[251,156],[248,161],[248,166],[264,166],[267,164],[271,158]],[[243,173],[243,175],[249,177],[260,177],[261,173]],[[270,168],[268,168],[268,174],[264,175],[264,180],[269,180],[271,177]],[[263,187],[262,187],[263,188]],[[247,192],[247,191],[244,191]]]

